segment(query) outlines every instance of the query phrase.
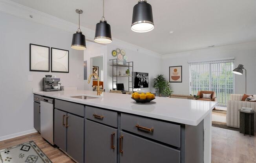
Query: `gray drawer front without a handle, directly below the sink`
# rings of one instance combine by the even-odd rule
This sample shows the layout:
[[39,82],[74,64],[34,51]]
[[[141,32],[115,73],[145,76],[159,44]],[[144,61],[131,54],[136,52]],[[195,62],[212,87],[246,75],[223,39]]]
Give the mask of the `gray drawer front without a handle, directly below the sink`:
[[84,105],[55,99],[55,108],[84,117]]

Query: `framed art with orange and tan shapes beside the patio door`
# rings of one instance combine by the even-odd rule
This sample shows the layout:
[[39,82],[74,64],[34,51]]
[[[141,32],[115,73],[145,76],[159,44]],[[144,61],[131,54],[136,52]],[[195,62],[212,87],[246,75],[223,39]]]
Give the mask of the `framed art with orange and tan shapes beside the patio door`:
[[182,66],[169,67],[169,82],[182,83]]

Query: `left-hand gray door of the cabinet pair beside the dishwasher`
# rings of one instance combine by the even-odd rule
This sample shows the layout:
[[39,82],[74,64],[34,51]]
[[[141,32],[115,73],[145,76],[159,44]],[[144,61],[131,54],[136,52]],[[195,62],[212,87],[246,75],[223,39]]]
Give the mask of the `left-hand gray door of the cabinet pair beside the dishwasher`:
[[54,144],[66,151],[66,112],[54,109]]

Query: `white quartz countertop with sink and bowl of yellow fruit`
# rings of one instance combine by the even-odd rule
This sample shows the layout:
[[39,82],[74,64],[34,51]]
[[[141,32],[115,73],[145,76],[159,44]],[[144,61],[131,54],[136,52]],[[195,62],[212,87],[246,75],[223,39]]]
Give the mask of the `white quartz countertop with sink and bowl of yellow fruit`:
[[[53,92],[33,91],[33,93],[60,100],[194,126],[198,125],[217,105],[217,102],[214,101],[186,100],[167,97],[155,97],[155,100],[150,103],[142,104],[132,100],[130,94],[103,92],[101,96],[97,96],[97,92],[84,90]],[[99,98],[82,100],[71,97],[81,95]]]

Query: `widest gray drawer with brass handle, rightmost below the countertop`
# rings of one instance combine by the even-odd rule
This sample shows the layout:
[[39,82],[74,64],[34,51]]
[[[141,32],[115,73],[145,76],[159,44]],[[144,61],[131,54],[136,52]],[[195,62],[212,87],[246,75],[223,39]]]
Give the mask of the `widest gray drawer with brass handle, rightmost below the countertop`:
[[121,113],[121,129],[180,147],[181,126]]

